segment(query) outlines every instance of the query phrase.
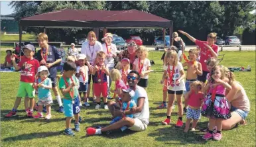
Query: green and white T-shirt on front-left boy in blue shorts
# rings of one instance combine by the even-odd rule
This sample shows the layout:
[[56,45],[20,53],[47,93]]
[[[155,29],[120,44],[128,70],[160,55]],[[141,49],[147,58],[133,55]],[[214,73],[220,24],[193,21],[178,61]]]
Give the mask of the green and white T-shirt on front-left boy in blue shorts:
[[[74,86],[74,97],[71,97],[71,96],[70,96],[70,93],[66,93],[66,94],[64,95],[64,99],[72,100],[72,99],[74,99],[75,97],[78,97],[79,81],[78,81],[78,78],[76,78],[75,75],[72,76],[72,79],[73,79],[73,81],[76,83],[76,86]],[[71,78],[68,78],[68,77],[66,78],[66,81],[67,81],[68,85],[70,85],[71,82],[72,82]],[[58,83],[58,87],[59,87],[60,89],[66,89],[66,87],[67,87],[67,86],[66,86],[66,83],[65,83],[65,81],[64,81],[63,76],[60,77],[60,81],[59,81],[59,83]],[[72,88],[71,88],[71,89],[72,89]]]

